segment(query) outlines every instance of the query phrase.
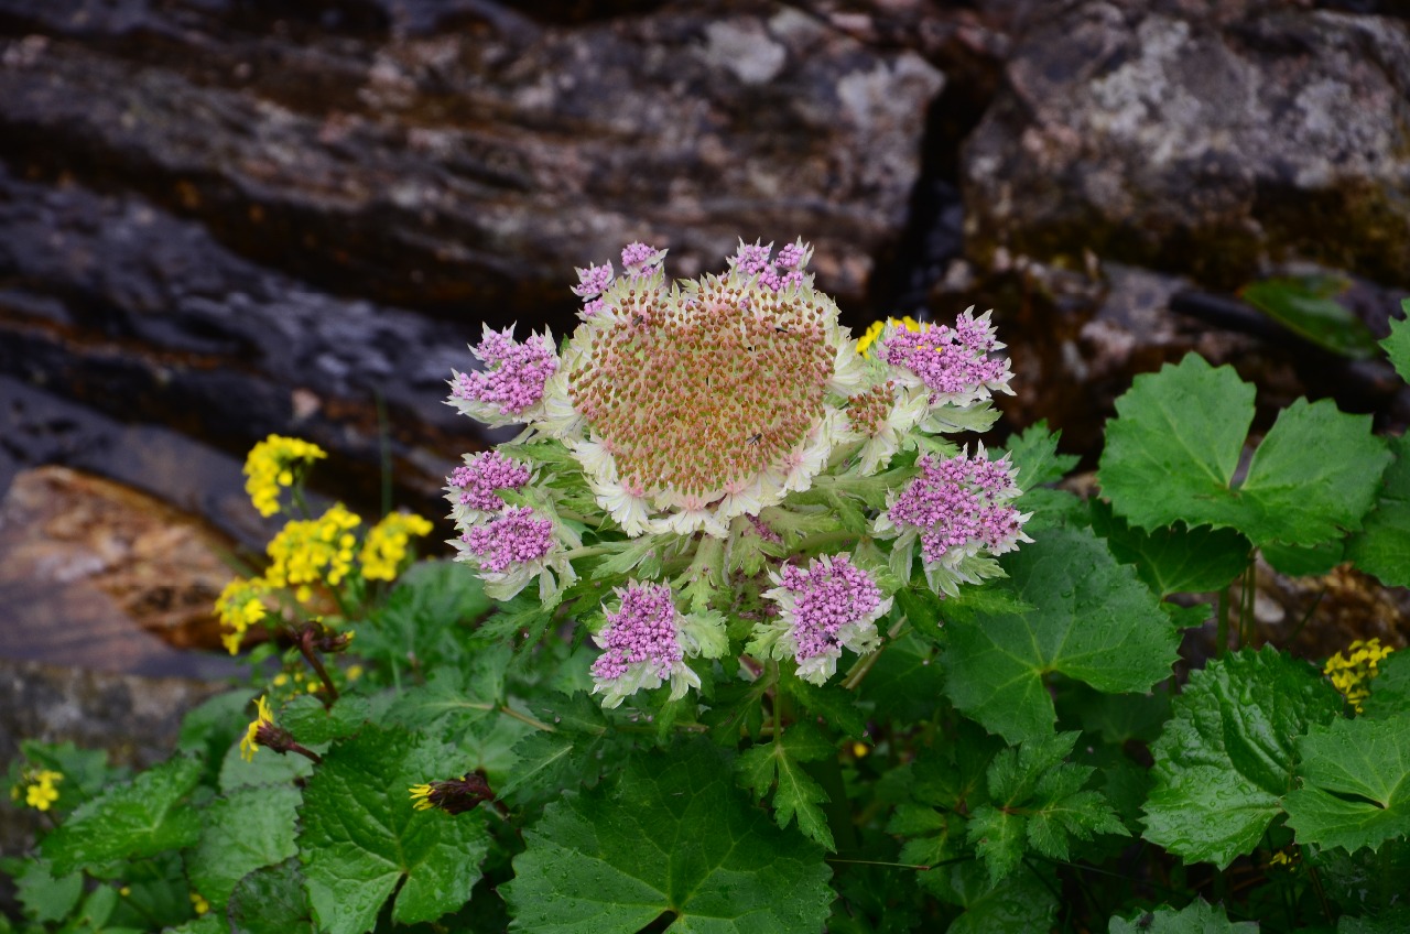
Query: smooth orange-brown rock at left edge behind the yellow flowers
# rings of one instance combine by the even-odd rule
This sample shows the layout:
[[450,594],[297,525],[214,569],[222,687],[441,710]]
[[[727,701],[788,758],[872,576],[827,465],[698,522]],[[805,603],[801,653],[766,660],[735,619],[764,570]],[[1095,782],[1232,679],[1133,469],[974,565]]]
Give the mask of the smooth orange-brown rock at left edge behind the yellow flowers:
[[0,656],[107,672],[223,676],[178,649],[220,648],[214,601],[233,542],[66,467],[20,473],[0,499]]

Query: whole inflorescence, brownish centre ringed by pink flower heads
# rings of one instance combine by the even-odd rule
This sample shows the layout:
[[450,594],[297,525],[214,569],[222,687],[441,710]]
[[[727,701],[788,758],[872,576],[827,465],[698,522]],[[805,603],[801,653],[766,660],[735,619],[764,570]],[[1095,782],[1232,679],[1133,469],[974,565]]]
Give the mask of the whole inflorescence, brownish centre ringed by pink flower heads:
[[955,594],[1029,540],[1007,459],[940,437],[1011,392],[988,316],[888,322],[863,356],[809,257],[740,243],[725,272],[671,282],[666,251],[630,244],[620,275],[578,269],[561,347],[486,326],[481,365],[453,374],[462,413],[525,426],[447,478],[458,559],[501,600],[537,581],[544,608],[611,587],[608,705],[681,697],[726,655],[821,684],[883,643],[915,559]]

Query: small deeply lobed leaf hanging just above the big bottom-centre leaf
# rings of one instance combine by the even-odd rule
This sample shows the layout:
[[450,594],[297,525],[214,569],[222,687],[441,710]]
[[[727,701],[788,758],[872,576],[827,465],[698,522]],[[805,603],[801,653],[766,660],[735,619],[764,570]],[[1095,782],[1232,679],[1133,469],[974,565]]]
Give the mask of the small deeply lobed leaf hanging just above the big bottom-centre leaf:
[[836,851],[828,817],[819,807],[830,799],[822,786],[802,770],[804,762],[818,762],[836,752],[836,746],[821,729],[799,722],[785,729],[781,739],[763,742],[739,753],[735,770],[756,797],[767,797],[777,782],[774,821],[778,827],[788,827],[797,817],[798,830],[809,839]]

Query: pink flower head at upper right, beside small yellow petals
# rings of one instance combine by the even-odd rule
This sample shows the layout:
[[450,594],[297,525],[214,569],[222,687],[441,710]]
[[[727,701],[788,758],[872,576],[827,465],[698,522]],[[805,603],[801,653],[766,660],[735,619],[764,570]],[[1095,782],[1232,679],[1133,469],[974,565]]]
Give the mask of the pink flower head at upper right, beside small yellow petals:
[[964,312],[955,327],[932,325],[919,330],[898,327],[885,337],[881,358],[908,370],[931,391],[931,405],[969,405],[993,392],[1010,392],[1008,360],[986,354],[1000,344],[988,317]]

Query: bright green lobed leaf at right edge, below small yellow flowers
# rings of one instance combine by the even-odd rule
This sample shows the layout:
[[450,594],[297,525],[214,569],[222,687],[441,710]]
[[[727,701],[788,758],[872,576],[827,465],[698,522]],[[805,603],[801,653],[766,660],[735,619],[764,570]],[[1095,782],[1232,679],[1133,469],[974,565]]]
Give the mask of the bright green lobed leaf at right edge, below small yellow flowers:
[[1299,844],[1372,851],[1410,834],[1410,711],[1337,718],[1297,741],[1301,787],[1285,800]]

